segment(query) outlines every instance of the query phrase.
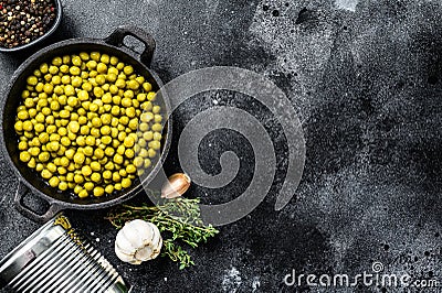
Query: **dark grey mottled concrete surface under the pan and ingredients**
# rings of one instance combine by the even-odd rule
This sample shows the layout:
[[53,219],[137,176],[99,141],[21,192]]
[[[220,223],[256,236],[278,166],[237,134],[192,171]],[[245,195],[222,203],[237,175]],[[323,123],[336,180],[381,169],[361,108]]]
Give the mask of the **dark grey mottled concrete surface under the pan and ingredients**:
[[[407,292],[283,283],[292,269],[356,275],[371,272],[375,261],[388,273],[442,284],[441,3],[64,0],[63,6],[62,28],[49,42],[104,37],[117,25],[135,24],[157,40],[152,66],[165,82],[207,66],[248,68],[284,89],[303,123],[303,180],[290,205],[274,211],[287,154],[277,120],[251,98],[224,91],[198,96],[178,109],[176,133],[193,115],[214,107],[214,99],[248,109],[274,139],[278,162],[265,202],[192,250],[197,265],[191,269],[179,271],[167,259],[123,264],[113,252],[116,231],[103,219],[106,210],[66,213],[135,292]],[[0,88],[24,57],[0,55]],[[222,203],[245,188],[254,156],[238,133],[207,137],[202,166],[220,172],[218,159],[225,150],[242,159],[238,177],[218,191],[193,186],[191,196]],[[176,152],[172,148],[168,172],[179,170]],[[39,227],[13,208],[17,184],[0,158],[0,257]]]

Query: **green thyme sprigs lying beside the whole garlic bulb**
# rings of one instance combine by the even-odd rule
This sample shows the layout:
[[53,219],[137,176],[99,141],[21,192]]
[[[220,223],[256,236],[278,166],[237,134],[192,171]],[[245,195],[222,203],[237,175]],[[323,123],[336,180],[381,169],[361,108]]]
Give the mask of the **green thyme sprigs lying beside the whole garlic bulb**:
[[179,262],[179,268],[185,269],[194,262],[182,245],[197,248],[199,243],[207,242],[210,237],[219,232],[211,225],[204,225],[199,203],[199,198],[178,197],[162,199],[158,206],[123,205],[118,210],[109,213],[106,218],[118,229],[133,219],[144,219],[155,224],[162,236],[161,256]]

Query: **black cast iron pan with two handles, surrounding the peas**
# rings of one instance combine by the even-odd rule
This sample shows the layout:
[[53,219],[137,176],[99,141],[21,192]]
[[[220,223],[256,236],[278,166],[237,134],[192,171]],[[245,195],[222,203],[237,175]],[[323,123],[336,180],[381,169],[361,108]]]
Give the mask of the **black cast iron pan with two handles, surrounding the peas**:
[[[128,35],[144,43],[145,51],[141,54],[137,54],[124,45],[123,41]],[[157,91],[162,86],[162,83],[158,78],[157,74],[149,69],[155,51],[155,41],[150,34],[134,26],[120,26],[105,40],[73,39],[53,44],[32,55],[17,69],[6,91],[7,96],[2,99],[1,126],[3,131],[1,135],[1,148],[4,153],[4,158],[19,177],[19,187],[14,199],[15,208],[22,215],[34,221],[46,221],[62,209],[105,208],[120,204],[134,197],[140,191],[143,191],[143,186],[148,185],[155,178],[155,175],[160,170],[169,150],[171,140],[170,119],[164,127],[164,139],[161,143],[162,149],[160,156],[154,162],[154,167],[150,169],[149,172],[146,172],[140,178],[137,178],[130,188],[120,191],[119,193],[115,193],[110,196],[83,199],[50,187],[48,183],[41,178],[36,171],[28,167],[27,164],[19,160],[19,137],[14,131],[14,123],[17,107],[22,100],[21,91],[27,84],[25,80],[28,76],[32,75],[33,70],[36,69],[40,64],[44,62],[49,63],[55,56],[92,51],[98,51],[101,53],[117,56],[122,62],[133,65],[134,69],[138,74],[145,76],[146,79],[152,85],[152,90]],[[156,102],[161,106],[161,109],[164,109],[164,116],[167,117],[170,106],[166,95],[162,95],[162,98],[157,99]],[[23,198],[25,196],[38,196],[46,200],[50,205],[49,209],[42,215],[38,214],[24,205]]]

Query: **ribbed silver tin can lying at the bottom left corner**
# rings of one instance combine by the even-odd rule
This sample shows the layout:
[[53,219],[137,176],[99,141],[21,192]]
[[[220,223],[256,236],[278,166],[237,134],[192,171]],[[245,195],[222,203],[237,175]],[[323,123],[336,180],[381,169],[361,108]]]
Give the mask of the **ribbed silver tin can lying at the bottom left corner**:
[[127,293],[112,264],[60,214],[0,262],[8,292]]

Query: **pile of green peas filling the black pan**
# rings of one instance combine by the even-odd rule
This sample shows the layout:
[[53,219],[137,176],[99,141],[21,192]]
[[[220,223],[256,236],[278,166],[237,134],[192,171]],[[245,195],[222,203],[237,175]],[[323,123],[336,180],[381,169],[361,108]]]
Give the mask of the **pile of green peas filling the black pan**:
[[115,56],[55,57],[28,77],[21,96],[20,161],[62,192],[85,198],[129,188],[160,151],[156,94]]

